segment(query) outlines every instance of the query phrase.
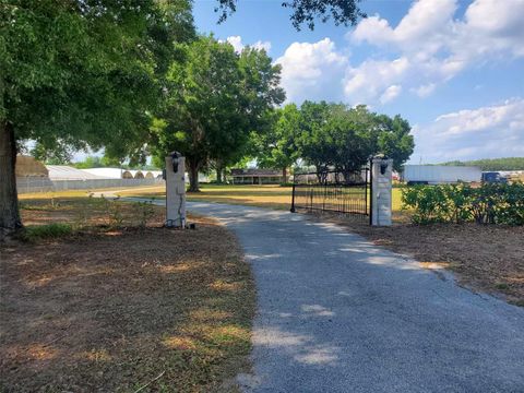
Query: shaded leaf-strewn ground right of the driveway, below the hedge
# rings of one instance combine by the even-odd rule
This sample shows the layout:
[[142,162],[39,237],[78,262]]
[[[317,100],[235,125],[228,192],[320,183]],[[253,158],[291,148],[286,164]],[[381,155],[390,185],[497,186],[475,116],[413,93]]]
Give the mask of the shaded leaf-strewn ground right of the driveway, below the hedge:
[[458,283],[524,307],[524,227],[477,224],[371,227],[362,221],[323,215],[376,245],[406,254],[428,269],[445,267]]

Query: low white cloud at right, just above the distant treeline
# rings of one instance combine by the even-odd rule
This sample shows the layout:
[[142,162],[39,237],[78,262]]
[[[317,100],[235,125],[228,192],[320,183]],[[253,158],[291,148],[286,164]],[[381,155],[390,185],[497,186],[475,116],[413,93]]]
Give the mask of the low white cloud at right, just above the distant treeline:
[[413,160],[524,156],[524,98],[439,116],[416,127]]

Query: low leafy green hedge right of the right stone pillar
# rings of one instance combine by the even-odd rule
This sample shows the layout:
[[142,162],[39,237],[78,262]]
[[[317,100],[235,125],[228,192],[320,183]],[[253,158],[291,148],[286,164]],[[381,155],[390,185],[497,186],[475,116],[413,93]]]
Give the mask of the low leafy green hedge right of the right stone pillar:
[[524,184],[414,186],[402,190],[404,209],[417,224],[466,223],[524,225]]

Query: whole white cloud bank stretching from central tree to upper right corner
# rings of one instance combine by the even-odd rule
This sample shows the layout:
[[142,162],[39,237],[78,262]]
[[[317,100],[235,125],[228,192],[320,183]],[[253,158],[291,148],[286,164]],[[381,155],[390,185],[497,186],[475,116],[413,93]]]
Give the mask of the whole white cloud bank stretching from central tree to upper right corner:
[[[475,0],[460,20],[456,10],[457,0],[417,0],[396,26],[379,15],[362,20],[346,38],[379,52],[359,64],[329,38],[291,44],[277,59],[288,98],[309,97],[308,86],[321,84],[342,90],[352,104],[386,104],[401,92],[427,97],[466,68],[524,56],[524,0]],[[333,91],[324,95],[337,98]]]

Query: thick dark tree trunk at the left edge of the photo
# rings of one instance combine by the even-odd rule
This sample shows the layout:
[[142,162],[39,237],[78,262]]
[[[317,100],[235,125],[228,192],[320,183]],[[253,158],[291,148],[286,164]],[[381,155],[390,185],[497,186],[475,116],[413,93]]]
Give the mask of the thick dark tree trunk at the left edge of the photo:
[[16,143],[13,126],[0,124],[0,240],[22,227],[16,193]]

